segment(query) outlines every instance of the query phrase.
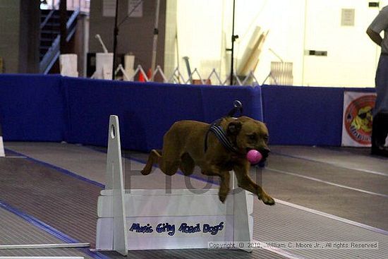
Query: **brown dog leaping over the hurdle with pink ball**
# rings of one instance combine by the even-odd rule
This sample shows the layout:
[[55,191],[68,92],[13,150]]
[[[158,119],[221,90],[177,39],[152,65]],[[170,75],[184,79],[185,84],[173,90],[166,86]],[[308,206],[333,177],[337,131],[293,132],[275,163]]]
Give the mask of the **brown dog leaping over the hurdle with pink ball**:
[[236,152],[227,149],[214,133],[208,133],[209,124],[178,121],[164,135],[162,151],[150,152],[142,174],[150,174],[152,165],[158,163],[164,174],[171,176],[181,169],[188,176],[198,165],[202,174],[221,178],[219,200],[224,203],[229,193],[229,171],[234,170],[238,186],[255,193],[263,203],[274,205],[274,199],[248,176],[250,162],[246,159],[246,153],[253,149],[260,151],[264,159],[268,156],[265,124],[247,116],[238,119],[227,116],[219,121],[219,126]]

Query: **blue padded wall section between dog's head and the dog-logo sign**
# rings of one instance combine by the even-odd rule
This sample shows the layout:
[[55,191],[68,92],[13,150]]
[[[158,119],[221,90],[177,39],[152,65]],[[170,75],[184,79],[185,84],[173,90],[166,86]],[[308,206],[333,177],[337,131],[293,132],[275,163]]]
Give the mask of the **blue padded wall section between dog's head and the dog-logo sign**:
[[343,88],[262,87],[272,145],[341,145]]

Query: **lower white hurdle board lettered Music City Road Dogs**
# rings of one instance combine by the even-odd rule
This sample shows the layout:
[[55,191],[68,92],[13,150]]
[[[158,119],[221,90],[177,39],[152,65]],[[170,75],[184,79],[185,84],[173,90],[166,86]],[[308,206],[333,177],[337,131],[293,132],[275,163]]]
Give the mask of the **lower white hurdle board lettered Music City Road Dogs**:
[[[102,226],[112,224],[111,218],[99,219]],[[127,217],[126,223],[128,225],[128,249],[142,250],[142,249],[174,249],[174,248],[207,248],[207,242],[210,241],[233,241],[234,238],[234,220],[232,216],[194,216],[194,217]],[[131,231],[133,224],[140,224],[140,226],[149,225],[152,232],[136,232]],[[172,231],[157,231],[157,225],[162,223],[169,223],[174,225],[174,232]],[[179,231],[181,224],[196,227],[199,224],[199,231],[187,233]],[[210,227],[217,227],[222,224],[222,229],[214,231],[204,231],[204,224]],[[168,233],[171,233],[169,235]],[[98,250],[109,250],[109,243],[111,242],[111,234],[97,233],[99,235],[98,242],[96,241],[96,248]]]

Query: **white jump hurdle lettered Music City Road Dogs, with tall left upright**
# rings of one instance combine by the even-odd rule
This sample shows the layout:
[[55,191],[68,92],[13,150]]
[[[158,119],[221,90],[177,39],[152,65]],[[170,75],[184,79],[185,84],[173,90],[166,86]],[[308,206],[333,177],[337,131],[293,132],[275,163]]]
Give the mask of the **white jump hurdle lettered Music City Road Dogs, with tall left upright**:
[[[253,195],[235,186],[223,204],[218,189],[124,190],[119,119],[111,115],[107,184],[97,205],[96,249],[208,248],[209,242],[249,242],[253,235]],[[144,176],[150,179],[152,176]],[[249,249],[244,249],[250,251]]]

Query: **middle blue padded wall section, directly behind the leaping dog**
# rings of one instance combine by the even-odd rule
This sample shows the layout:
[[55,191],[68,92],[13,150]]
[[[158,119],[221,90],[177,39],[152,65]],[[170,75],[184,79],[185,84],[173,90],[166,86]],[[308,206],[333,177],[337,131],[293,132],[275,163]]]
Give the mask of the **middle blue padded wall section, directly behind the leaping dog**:
[[164,133],[175,121],[212,122],[241,100],[245,114],[261,116],[260,88],[210,85],[112,82],[66,78],[68,103],[66,140],[107,145],[109,114],[119,116],[121,143],[126,149],[162,147]]

